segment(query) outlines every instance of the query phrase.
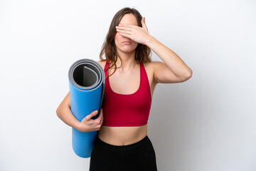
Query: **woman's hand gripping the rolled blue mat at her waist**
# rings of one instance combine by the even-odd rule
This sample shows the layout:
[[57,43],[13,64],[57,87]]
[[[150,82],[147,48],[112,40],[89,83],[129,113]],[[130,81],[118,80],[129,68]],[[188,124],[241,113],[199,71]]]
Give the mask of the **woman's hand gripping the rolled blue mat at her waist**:
[[103,123],[103,112],[102,108],[100,109],[100,115],[96,119],[92,119],[93,116],[97,115],[97,110],[93,111],[85,118],[82,119],[78,125],[78,130],[80,132],[90,132],[100,130],[100,127]]

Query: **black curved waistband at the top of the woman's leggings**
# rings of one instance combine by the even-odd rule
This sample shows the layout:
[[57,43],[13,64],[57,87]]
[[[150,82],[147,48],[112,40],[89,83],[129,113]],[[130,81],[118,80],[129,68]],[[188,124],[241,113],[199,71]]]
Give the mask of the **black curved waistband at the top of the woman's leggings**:
[[148,135],[146,135],[146,137],[144,137],[142,140],[139,140],[138,142],[134,142],[129,145],[111,145],[107,142],[100,140],[99,136],[97,135],[95,139],[95,145],[101,145],[103,147],[107,147],[110,150],[125,151],[125,150],[132,150],[136,147],[144,145],[148,141],[149,141],[149,137]]

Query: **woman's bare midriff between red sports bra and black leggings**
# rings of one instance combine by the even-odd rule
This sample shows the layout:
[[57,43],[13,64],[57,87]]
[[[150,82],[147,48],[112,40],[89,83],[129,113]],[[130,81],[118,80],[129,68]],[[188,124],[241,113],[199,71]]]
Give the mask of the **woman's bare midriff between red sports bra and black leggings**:
[[147,125],[132,127],[109,127],[102,125],[100,140],[110,145],[130,145],[146,137]]

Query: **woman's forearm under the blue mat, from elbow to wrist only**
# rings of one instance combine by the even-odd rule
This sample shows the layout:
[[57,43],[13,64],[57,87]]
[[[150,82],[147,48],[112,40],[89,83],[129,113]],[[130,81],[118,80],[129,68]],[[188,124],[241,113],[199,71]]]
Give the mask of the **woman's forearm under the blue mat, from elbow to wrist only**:
[[77,130],[79,129],[78,125],[80,124],[80,121],[77,120],[77,118],[75,118],[75,116],[71,112],[70,108],[68,108],[68,106],[59,107],[56,110],[56,113],[58,115],[58,118],[60,118],[60,120],[63,120],[65,124]]

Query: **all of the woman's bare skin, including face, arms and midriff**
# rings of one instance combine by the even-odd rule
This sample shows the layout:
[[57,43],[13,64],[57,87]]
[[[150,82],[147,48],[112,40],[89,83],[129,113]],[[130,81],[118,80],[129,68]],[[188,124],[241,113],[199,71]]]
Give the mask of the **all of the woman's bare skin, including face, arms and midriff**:
[[[151,98],[157,83],[181,83],[192,76],[192,70],[174,51],[164,46],[149,34],[146,28],[145,18],[142,18],[142,27],[137,25],[137,19],[133,14],[125,14],[114,37],[117,46],[117,70],[110,76],[110,87],[115,93],[131,94],[139,88],[139,64],[135,62],[135,49],[138,43],[149,46],[163,62],[153,61],[145,63],[144,68],[149,79]],[[130,41],[132,44],[124,44],[123,41]],[[97,61],[102,68],[105,68],[104,61]],[[110,74],[114,71],[110,69]],[[81,122],[75,119],[70,112],[70,95],[66,95],[56,111],[58,117],[68,125],[80,131],[99,130],[99,138],[112,145],[129,145],[142,140],[147,134],[147,125],[135,127],[108,127],[102,125],[103,113],[97,119],[91,119],[97,113],[87,115]]]

